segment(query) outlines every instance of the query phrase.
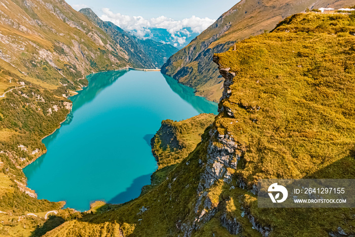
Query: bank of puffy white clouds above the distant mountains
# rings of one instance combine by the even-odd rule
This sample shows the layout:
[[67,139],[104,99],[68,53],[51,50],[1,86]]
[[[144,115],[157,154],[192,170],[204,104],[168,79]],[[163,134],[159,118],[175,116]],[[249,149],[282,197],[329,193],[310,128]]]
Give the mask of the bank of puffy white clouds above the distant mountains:
[[185,44],[186,38],[191,35],[191,33],[185,28],[190,27],[192,32],[201,33],[216,21],[207,17],[199,18],[196,16],[185,18],[181,21],[176,21],[165,16],[145,19],[141,16],[131,17],[120,13],[113,13],[109,8],[103,8],[102,12],[103,15],[100,18],[103,21],[111,21],[125,30],[133,31],[141,38],[150,37],[151,32],[148,29],[149,27],[166,29],[171,34],[174,46],[177,46],[177,44]]

